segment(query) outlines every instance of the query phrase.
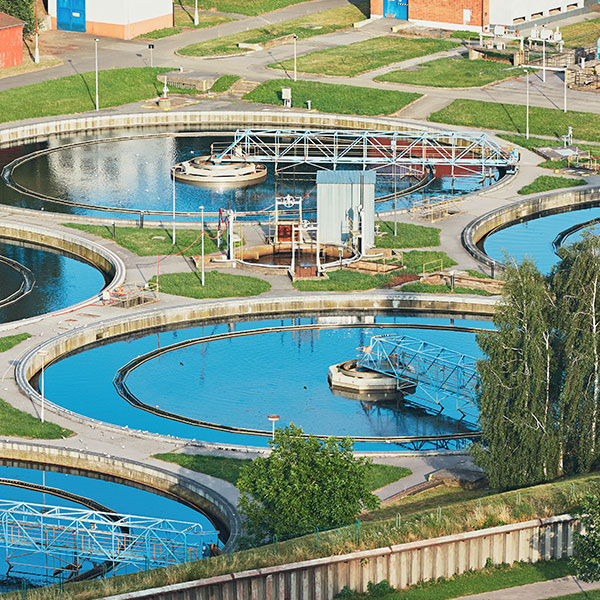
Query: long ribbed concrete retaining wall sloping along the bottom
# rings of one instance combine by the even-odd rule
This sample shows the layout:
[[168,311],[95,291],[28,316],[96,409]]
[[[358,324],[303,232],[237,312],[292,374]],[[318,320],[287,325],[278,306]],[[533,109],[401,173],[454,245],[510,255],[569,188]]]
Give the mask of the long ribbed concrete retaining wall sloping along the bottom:
[[111,600],[331,600],[344,586],[364,592],[384,579],[404,588],[470,569],[570,556],[570,515],[398,544],[111,596]]

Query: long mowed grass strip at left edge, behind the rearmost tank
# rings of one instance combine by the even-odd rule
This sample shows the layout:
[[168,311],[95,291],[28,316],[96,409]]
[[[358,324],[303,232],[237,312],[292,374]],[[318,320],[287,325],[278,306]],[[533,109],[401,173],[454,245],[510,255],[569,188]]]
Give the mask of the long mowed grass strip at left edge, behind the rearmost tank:
[[[165,67],[110,69],[98,74],[100,108],[160,95]],[[95,73],[69,75],[0,92],[0,122],[80,113],[96,108]]]

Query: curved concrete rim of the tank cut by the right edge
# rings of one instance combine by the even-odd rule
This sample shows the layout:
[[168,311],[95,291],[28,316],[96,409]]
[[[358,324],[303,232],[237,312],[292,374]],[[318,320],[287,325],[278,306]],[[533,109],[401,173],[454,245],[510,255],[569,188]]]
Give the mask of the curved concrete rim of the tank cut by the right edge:
[[538,194],[491,210],[473,219],[462,230],[461,242],[475,260],[501,271],[504,265],[479,248],[479,244],[486,237],[523,221],[595,206],[600,206],[600,186],[568,188],[558,192]]

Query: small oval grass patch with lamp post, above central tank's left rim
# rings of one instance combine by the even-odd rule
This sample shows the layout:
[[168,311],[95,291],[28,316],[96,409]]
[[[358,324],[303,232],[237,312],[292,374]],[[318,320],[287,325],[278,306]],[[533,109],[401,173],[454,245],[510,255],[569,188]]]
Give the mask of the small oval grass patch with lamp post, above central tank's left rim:
[[[153,277],[150,283],[156,283]],[[268,292],[271,285],[246,275],[229,275],[218,271],[205,273],[205,285],[202,286],[200,273],[169,273],[160,276],[160,291],[174,296],[188,298],[239,298],[256,296]]]

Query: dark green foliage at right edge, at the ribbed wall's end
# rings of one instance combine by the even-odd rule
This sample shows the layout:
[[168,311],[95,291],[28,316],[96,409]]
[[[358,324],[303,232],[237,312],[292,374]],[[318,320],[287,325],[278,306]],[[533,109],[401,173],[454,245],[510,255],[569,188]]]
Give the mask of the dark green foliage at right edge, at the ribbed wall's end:
[[587,496],[581,503],[582,533],[575,533],[573,565],[583,581],[600,580],[600,497]]

